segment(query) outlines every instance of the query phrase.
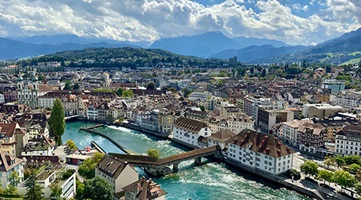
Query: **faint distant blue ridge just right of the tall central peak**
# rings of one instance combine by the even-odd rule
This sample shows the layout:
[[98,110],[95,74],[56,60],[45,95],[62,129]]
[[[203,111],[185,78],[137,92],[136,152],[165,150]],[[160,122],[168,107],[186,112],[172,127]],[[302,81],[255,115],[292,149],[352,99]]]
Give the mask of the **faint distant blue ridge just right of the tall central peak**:
[[239,49],[249,46],[262,46],[262,45],[272,45],[274,47],[283,47],[288,46],[286,43],[278,41],[278,40],[269,40],[262,38],[246,38],[246,37],[235,37],[232,38],[233,41],[239,44]]

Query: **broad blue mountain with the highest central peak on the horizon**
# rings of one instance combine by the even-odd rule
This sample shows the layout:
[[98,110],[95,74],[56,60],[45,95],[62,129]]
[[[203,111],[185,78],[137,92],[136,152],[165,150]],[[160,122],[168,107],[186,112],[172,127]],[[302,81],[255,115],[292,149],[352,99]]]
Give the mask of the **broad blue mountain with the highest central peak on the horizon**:
[[150,48],[164,49],[182,55],[209,57],[224,49],[237,48],[238,44],[221,32],[207,32],[200,35],[163,38]]

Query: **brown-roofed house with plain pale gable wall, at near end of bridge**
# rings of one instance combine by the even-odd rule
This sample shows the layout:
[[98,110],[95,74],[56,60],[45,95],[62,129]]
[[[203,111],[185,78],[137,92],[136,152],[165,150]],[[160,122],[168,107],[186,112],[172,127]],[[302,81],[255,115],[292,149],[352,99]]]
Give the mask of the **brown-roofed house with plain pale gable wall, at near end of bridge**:
[[115,194],[138,180],[138,172],[133,166],[108,154],[96,166],[95,176],[106,180]]

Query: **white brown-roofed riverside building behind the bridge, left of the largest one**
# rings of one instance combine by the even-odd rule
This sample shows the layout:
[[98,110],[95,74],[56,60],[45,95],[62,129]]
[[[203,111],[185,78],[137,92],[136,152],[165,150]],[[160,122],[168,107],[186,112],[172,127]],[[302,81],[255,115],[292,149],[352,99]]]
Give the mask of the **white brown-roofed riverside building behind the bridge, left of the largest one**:
[[209,137],[210,135],[211,129],[201,121],[180,117],[173,125],[173,139],[190,147],[198,146],[200,136]]

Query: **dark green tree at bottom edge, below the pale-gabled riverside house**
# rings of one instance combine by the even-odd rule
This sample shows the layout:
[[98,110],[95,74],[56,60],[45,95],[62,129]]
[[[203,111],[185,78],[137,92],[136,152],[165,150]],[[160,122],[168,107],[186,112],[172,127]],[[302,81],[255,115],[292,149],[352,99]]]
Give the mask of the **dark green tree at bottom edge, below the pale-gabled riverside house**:
[[84,199],[112,199],[113,189],[105,180],[95,177],[84,183]]

